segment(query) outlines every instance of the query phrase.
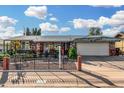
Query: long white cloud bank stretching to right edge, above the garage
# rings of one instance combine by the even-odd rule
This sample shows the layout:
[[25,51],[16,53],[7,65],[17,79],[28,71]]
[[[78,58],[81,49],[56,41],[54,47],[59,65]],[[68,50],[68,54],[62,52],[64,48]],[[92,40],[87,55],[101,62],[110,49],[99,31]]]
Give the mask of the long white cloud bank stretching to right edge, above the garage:
[[112,27],[119,27],[124,25],[124,11],[117,11],[110,18],[101,16],[98,20],[94,19],[74,19],[73,24],[74,28],[89,28],[89,27],[100,27],[102,28],[104,25],[109,25]]

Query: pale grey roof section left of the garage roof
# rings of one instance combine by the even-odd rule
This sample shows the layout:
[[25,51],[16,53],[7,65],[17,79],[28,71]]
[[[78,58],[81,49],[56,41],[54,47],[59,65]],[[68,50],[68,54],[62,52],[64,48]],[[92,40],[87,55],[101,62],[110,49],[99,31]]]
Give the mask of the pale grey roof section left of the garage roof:
[[42,42],[69,42],[76,38],[81,38],[83,36],[18,36],[6,40],[30,40],[30,41],[42,41]]

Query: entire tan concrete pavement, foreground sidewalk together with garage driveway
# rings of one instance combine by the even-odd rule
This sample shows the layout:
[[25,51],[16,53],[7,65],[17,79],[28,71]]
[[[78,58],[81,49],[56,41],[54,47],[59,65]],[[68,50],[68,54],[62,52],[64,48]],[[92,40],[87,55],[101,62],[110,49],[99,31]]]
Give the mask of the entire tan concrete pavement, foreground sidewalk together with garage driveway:
[[124,87],[124,60],[118,57],[90,58],[92,59],[87,59],[82,63],[82,71],[26,72],[25,76],[19,82],[14,83],[13,81],[17,79],[16,72],[9,72],[8,80],[4,84],[4,87]]

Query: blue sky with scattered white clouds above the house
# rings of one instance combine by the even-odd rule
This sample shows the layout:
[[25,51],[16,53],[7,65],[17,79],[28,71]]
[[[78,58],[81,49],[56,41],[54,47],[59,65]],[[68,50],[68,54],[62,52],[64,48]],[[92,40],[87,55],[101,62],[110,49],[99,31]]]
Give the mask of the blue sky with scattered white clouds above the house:
[[[3,31],[0,33],[2,36],[7,33],[5,37],[16,36],[21,34],[24,27],[40,27],[43,35],[87,35],[88,28],[98,26],[105,35],[111,35],[123,31],[123,16],[124,6],[1,5],[0,27]],[[6,24],[10,25],[4,26]],[[9,32],[9,29],[12,31]]]

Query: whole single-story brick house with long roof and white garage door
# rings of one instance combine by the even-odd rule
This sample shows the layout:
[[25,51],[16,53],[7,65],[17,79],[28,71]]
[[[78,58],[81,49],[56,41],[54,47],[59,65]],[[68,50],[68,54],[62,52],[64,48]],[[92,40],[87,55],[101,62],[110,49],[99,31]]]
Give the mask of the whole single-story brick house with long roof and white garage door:
[[19,36],[8,40],[30,41],[30,48],[40,53],[43,53],[46,47],[53,51],[58,45],[67,53],[67,50],[75,45],[77,54],[84,56],[109,56],[110,49],[114,49],[115,42],[119,41],[105,36]]

